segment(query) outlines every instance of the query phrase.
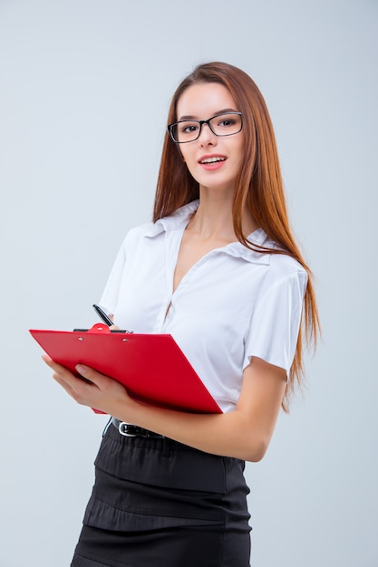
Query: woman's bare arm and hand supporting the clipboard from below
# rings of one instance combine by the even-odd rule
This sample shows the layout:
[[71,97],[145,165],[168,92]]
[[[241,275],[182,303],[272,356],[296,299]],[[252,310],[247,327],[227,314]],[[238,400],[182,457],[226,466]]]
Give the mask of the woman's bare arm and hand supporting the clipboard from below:
[[253,358],[244,371],[235,411],[190,414],[131,399],[121,384],[81,365],[77,370],[92,382],[87,383],[48,357],[43,358],[54,370],[53,378],[78,403],[201,451],[248,461],[258,461],[265,455],[286,388],[285,370]]

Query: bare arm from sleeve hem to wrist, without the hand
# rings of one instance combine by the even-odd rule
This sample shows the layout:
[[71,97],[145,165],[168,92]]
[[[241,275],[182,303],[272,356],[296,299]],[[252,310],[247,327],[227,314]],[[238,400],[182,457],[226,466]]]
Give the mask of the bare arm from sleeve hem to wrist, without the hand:
[[207,453],[258,461],[276,427],[285,370],[254,359],[244,372],[237,408],[226,414],[189,414],[121,400],[115,417]]

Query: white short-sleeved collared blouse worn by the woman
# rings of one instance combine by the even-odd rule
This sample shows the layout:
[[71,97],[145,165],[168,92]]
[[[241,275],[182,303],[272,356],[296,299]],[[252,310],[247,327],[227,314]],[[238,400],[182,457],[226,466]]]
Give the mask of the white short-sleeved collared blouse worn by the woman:
[[[121,328],[170,333],[226,412],[237,404],[253,356],[290,370],[307,274],[290,256],[235,242],[203,256],[173,293],[181,238],[198,206],[131,229],[100,304]],[[274,246],[262,229],[248,238]]]

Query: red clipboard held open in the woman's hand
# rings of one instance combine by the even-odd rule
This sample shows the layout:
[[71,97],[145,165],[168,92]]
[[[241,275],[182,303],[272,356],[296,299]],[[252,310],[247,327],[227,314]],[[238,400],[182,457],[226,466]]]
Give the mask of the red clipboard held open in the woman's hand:
[[85,364],[121,382],[131,396],[193,413],[222,413],[170,334],[111,332],[102,323],[85,331],[31,329],[35,341],[74,374]]

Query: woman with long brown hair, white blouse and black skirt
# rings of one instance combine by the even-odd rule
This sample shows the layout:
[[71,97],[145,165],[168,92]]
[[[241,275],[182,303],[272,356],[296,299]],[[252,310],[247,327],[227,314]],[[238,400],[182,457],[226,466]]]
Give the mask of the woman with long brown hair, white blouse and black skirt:
[[143,404],[44,357],[73,399],[113,416],[73,566],[249,565],[244,464],[300,384],[310,275],[265,101],[236,67],[199,65],[170,105],[153,223],[127,235],[100,303],[121,328],[170,333],[223,413]]

